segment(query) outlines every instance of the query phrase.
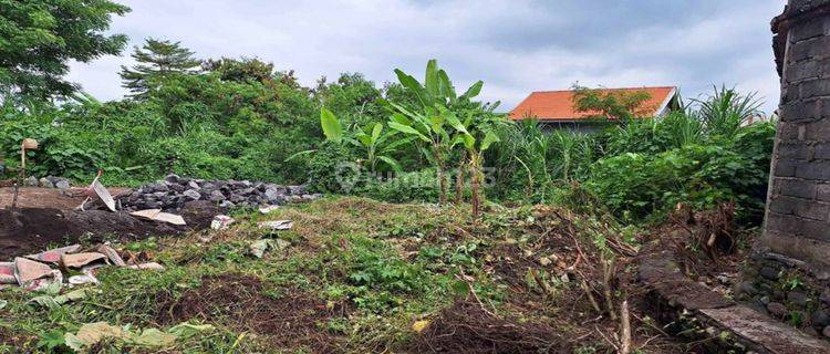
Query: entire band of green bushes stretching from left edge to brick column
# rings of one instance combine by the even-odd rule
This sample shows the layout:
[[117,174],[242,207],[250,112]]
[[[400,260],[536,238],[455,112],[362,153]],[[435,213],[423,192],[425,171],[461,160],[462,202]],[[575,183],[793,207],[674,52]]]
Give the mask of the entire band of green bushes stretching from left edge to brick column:
[[[206,67],[212,69],[169,75],[142,100],[101,103],[79,95],[60,106],[9,101],[0,112],[0,154],[8,166],[17,167],[19,142],[32,137],[41,143],[39,150],[29,153],[30,171],[38,176],[85,181],[104,169],[105,183],[129,186],[175,171],[200,178],[304,183],[320,191],[388,201],[434,201],[440,184],[433,148],[443,148],[445,186],[454,194],[452,169],[471,166],[470,152],[457,148],[465,137],[461,128],[474,132],[477,125],[470,117],[487,116],[492,124],[479,135],[468,133],[467,138],[476,147],[475,142],[488,139],[485,133],[498,136],[499,142],[484,150],[483,164],[491,168],[487,177],[494,184],[487,190],[496,199],[573,202],[578,196],[580,207],[593,200],[593,207],[629,221],[660,218],[677,202],[706,209],[735,200],[740,216],[750,222],[762,214],[775,125],[743,126],[745,117],[756,114],[757,103],[751,95],[732,90],[715,90],[709,100],[665,117],[629,118],[584,134],[546,132],[532,121],[507,122],[492,114],[491,106],[452,92],[442,98],[446,107],[424,106],[413,92],[419,87],[415,79],[408,82],[412,87],[377,88],[352,73],[307,88],[292,73],[272,73],[270,64],[256,60],[222,59]],[[470,90],[477,94],[480,84]],[[435,96],[443,97],[442,92]],[[344,132],[363,132],[361,138],[369,143],[377,138],[373,138],[377,125],[378,136],[396,128],[401,138],[417,137],[398,124],[412,121],[393,116],[395,112],[424,114],[424,119],[440,113],[445,124],[424,133],[442,137],[430,140],[434,146],[411,140],[384,150],[388,155],[384,158],[403,167],[403,174],[393,174],[397,165],[377,164],[375,155],[366,154],[366,148],[381,145],[324,142],[321,106],[339,117]],[[466,117],[464,122],[456,114]],[[356,135],[351,139],[357,142]],[[470,192],[469,177],[459,189],[464,196]]]

